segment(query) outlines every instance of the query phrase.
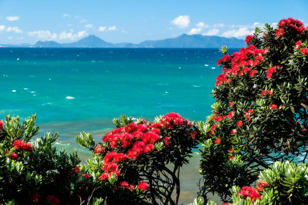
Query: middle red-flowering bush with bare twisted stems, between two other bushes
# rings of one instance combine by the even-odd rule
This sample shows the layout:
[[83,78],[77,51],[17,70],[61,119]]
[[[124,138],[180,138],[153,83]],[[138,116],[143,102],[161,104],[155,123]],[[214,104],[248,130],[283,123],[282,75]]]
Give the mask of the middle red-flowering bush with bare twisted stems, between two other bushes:
[[124,115],[114,119],[116,129],[95,147],[91,134],[76,137],[79,144],[93,151],[87,161],[89,169],[101,183],[112,183],[115,193],[127,193],[127,198],[109,197],[119,200],[118,204],[132,200],[135,204],[178,204],[180,167],[188,163],[192,148],[196,148],[198,129],[176,113],[151,123],[133,120]]

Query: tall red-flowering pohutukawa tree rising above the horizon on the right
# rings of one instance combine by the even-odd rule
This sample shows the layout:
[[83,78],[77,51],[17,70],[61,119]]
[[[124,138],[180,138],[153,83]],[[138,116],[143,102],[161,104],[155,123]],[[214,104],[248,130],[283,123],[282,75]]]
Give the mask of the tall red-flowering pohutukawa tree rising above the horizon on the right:
[[205,198],[228,201],[233,185],[253,184],[273,161],[307,159],[307,40],[303,23],[288,18],[256,28],[239,52],[221,48],[213,114],[199,125]]

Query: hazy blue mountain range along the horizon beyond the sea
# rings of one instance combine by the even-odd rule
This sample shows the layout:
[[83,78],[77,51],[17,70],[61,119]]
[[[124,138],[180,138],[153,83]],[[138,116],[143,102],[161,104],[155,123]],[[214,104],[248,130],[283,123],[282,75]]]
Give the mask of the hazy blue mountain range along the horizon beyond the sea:
[[44,48],[240,48],[245,46],[244,40],[237,38],[224,38],[219,36],[202,36],[182,34],[176,38],[156,41],[142,41],[139,44],[132,43],[108,43],[95,35],[89,35],[73,43],[57,43],[55,41],[38,41],[34,45],[5,45],[0,47],[44,47]]

